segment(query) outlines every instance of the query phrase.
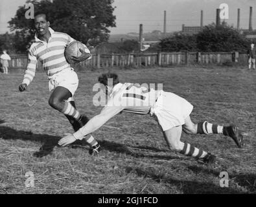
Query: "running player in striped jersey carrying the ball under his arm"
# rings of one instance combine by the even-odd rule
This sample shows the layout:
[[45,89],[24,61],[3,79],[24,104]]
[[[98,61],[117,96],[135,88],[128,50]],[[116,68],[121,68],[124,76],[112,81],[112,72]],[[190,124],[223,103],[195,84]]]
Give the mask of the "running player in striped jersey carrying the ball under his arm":
[[[25,71],[23,82],[19,85],[19,91],[27,90],[28,85],[35,76],[36,63],[40,60],[43,64],[43,69],[47,72],[49,91],[52,91],[49,105],[64,113],[72,124],[73,129],[77,131],[87,123],[88,118],[82,116],[76,110],[73,96],[78,87],[78,77],[64,56],[65,47],[75,39],[68,34],[52,30],[45,14],[39,13],[35,15],[34,26],[36,28],[35,42],[29,49],[27,70]],[[82,52],[81,56],[72,58],[75,63],[91,58],[86,45],[84,47],[86,48],[84,51],[80,50]],[[97,146],[98,144],[91,135],[86,136],[85,140],[91,146]]]

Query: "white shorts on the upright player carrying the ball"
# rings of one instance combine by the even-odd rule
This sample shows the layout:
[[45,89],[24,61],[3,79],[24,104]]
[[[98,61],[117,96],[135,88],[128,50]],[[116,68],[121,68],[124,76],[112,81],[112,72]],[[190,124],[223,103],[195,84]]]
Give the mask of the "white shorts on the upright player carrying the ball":
[[73,68],[67,68],[52,76],[49,76],[49,91],[54,90],[58,86],[62,86],[70,91],[74,96],[78,87],[78,77]]

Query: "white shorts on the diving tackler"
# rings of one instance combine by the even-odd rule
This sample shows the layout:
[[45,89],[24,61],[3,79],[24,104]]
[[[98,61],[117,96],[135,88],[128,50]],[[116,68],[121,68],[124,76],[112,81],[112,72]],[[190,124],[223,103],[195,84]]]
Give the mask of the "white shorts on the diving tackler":
[[184,98],[174,93],[161,91],[150,113],[157,117],[163,131],[185,124],[185,119],[191,114],[193,106]]

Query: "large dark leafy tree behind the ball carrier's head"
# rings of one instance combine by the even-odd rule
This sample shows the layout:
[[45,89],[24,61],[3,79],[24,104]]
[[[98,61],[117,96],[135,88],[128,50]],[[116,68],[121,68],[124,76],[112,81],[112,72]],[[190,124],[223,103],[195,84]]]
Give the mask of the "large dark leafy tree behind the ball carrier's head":
[[[109,38],[109,27],[115,27],[113,16],[113,0],[29,0],[34,5],[35,13],[40,11],[47,14],[51,27],[58,32],[65,32],[78,41],[87,43],[95,39],[95,45]],[[16,30],[16,40],[24,44],[17,50],[25,51],[34,38],[34,20],[25,18],[26,9],[20,6],[16,16],[9,21],[10,29]],[[17,43],[17,45],[19,45]],[[17,46],[16,45],[16,46]],[[95,46],[93,45],[93,46]]]

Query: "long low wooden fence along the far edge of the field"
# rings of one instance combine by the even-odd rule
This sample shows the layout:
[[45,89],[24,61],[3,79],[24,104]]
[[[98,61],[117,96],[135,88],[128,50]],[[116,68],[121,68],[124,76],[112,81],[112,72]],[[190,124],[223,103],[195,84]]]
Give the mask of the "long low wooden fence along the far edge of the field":
[[[10,69],[25,69],[26,55],[12,55]],[[247,54],[239,52],[158,52],[141,54],[93,54],[91,60],[80,63],[80,67],[150,67],[191,64],[221,64],[225,62],[247,63]],[[42,68],[38,61],[38,68]]]

